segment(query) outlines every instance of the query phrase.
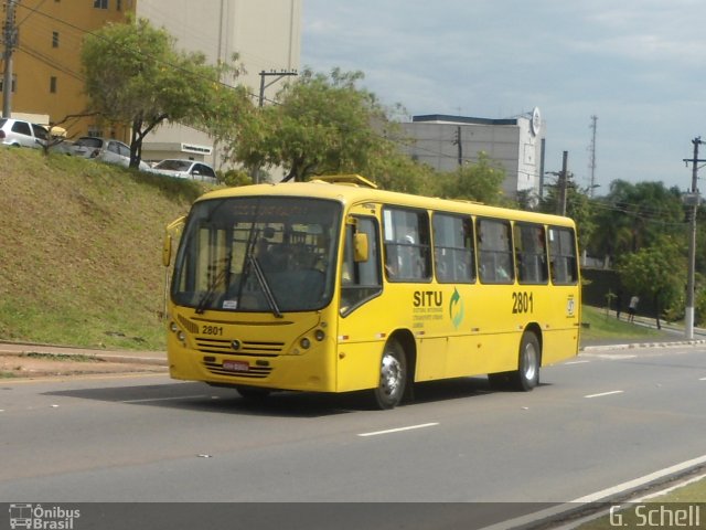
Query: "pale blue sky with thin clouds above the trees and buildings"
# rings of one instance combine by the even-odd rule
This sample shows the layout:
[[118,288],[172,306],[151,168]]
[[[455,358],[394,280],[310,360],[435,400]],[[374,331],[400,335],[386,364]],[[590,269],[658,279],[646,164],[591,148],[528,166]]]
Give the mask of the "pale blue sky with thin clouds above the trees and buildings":
[[302,11],[301,66],[361,71],[386,106],[481,118],[538,107],[545,170],[566,150],[580,187],[597,116],[596,195],[617,179],[691,189],[684,159],[706,141],[703,0],[303,0]]

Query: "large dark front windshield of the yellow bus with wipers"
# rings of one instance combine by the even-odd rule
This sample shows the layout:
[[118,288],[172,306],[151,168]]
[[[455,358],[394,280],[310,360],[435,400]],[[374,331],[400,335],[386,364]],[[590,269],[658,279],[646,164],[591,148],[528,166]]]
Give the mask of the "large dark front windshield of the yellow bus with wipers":
[[194,205],[172,299],[206,310],[321,309],[335,278],[341,204],[309,198],[214,199]]

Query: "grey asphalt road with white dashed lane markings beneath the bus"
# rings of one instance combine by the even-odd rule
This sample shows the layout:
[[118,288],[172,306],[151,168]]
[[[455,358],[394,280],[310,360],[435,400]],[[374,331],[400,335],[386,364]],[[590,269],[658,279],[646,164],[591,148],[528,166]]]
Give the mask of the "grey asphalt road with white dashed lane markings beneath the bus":
[[427,383],[385,412],[153,374],[2,381],[0,502],[480,502],[498,517],[492,502],[598,498],[706,458],[705,353],[584,352],[530,393]]

